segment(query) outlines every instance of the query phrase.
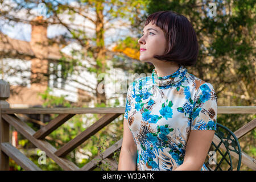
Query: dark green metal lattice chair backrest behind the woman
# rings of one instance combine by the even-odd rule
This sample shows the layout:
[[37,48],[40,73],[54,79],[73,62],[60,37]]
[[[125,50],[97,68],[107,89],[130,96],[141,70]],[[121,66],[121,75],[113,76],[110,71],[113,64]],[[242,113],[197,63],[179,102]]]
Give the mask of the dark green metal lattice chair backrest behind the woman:
[[240,170],[242,151],[238,139],[234,133],[227,127],[217,123],[217,129],[213,142],[210,146],[210,159],[206,160],[205,166],[212,171],[223,171],[221,166],[229,166],[228,171],[233,171],[234,163],[232,162],[230,152],[235,152],[238,155],[237,171]]

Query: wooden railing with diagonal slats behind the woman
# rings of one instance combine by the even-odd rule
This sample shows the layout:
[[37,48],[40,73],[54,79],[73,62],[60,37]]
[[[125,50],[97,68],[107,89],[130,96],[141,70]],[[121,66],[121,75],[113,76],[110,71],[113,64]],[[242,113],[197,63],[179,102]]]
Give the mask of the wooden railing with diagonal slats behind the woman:
[[[5,101],[10,96],[10,88],[7,82],[0,80],[0,170],[9,170],[9,157],[13,159],[20,167],[25,170],[41,170],[35,163],[31,162],[22,152],[15,148],[9,141],[10,126],[13,126],[20,134],[27,138],[31,143],[40,150],[46,152],[46,155],[54,160],[64,170],[92,170],[96,168],[97,164],[109,163],[110,169],[117,170],[118,164],[115,163],[110,156],[113,155],[122,146],[122,139],[118,140],[115,144],[106,149],[102,154],[96,156],[85,166],[79,168],[74,163],[65,158],[65,156],[80,146],[85,140],[89,139],[92,135],[96,134],[103,127],[112,122],[115,118],[125,112],[124,107],[115,108],[29,108],[29,109],[10,109],[9,104]],[[237,107],[218,107],[218,114],[255,114],[255,106],[237,106]],[[68,143],[64,144],[59,150],[47,142],[46,137],[52,131],[63,125],[68,119],[76,114],[98,113],[105,114],[82,131],[77,137],[73,138]],[[52,119],[47,125],[43,126],[38,131],[34,131],[22,119],[17,117],[16,114],[59,114],[56,118]],[[234,132],[238,139],[243,137],[246,133],[256,127],[256,119],[253,119],[246,125]],[[215,138],[213,140],[216,140]],[[236,153],[232,153],[234,158],[237,158]],[[247,167],[256,170],[255,159],[251,158],[245,152],[242,152],[242,163]]]

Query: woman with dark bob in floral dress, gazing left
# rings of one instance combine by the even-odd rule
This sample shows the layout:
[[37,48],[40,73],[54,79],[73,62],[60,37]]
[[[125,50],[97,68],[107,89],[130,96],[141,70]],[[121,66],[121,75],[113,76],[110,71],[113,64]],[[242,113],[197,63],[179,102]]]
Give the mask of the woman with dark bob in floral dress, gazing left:
[[138,43],[139,59],[155,68],[129,85],[118,170],[207,170],[217,97],[187,72],[198,55],[192,24],[173,11],[156,12]]

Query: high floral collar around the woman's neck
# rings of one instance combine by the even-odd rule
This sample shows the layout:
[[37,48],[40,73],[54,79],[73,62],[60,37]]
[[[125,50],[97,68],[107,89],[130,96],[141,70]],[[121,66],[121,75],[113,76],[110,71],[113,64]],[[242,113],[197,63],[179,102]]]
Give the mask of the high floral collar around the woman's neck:
[[167,76],[158,76],[156,69],[154,68],[151,77],[154,85],[164,89],[178,84],[181,80],[183,80],[186,73],[187,69],[183,65],[180,65],[176,72]]

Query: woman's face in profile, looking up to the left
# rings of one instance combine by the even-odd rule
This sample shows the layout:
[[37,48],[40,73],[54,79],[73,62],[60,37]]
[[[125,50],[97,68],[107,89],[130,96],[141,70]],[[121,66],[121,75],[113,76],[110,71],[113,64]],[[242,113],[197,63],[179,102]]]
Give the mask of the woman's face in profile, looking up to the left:
[[163,55],[167,47],[167,40],[163,30],[151,22],[144,27],[143,36],[138,40],[138,43],[141,45],[141,49],[146,49],[141,50],[139,60],[149,61],[151,63],[157,60],[153,55]]

